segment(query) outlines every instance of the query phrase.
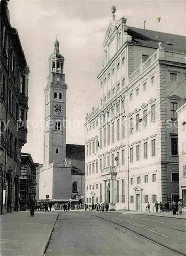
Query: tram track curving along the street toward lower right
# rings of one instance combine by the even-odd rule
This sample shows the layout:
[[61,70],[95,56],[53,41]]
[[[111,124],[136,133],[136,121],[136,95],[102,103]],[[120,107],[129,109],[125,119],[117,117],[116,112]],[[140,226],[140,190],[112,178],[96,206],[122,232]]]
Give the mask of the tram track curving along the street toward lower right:
[[[140,236],[150,242],[153,242],[159,246],[162,246],[164,248],[171,250],[172,252],[175,252],[177,255],[186,256],[185,242],[181,241],[177,238],[172,238],[170,236],[167,236],[166,234],[162,234],[162,233],[156,232],[154,230],[148,229],[146,227],[136,225],[134,223],[125,221],[124,219],[110,218],[110,216],[103,217],[100,215],[89,214],[89,213],[88,213],[88,215],[108,221],[114,225],[119,226],[120,229],[124,228],[125,230],[130,231],[134,234],[137,234],[138,236]],[[118,229],[118,228],[116,228],[116,229]],[[118,230],[120,230],[120,229],[118,229]],[[120,231],[124,232],[122,230],[120,230]],[[181,230],[179,230],[179,231],[181,231]]]

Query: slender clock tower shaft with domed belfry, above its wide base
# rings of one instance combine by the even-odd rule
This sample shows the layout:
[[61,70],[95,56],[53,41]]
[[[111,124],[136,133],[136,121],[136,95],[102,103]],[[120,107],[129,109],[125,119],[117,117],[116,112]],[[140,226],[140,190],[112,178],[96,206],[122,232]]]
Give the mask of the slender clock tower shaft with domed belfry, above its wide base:
[[61,164],[66,156],[66,90],[64,57],[56,38],[49,58],[49,75],[45,88],[44,168]]

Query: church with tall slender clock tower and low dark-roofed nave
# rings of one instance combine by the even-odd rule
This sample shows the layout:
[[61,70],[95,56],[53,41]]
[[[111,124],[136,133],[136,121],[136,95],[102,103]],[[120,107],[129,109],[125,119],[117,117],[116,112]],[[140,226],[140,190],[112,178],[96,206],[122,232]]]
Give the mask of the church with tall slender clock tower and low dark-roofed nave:
[[66,145],[67,84],[63,71],[64,57],[59,53],[56,38],[45,88],[44,163],[39,169],[39,199],[49,195],[51,201],[61,203],[70,198],[78,202],[74,199],[76,195],[84,198],[84,146]]

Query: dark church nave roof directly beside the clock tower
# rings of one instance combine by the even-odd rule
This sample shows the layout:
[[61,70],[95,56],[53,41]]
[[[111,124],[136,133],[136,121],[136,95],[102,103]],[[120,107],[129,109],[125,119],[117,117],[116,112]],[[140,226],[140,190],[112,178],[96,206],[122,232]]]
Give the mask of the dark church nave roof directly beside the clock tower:
[[66,144],[66,158],[85,161],[85,146]]

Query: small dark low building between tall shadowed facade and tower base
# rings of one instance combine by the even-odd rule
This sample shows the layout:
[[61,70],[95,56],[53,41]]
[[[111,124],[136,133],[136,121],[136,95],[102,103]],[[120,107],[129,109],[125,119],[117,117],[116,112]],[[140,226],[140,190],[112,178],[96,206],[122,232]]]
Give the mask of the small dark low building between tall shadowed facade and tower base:
[[30,200],[36,200],[36,169],[38,163],[34,163],[30,154],[21,153],[20,170],[20,210],[28,210]]

